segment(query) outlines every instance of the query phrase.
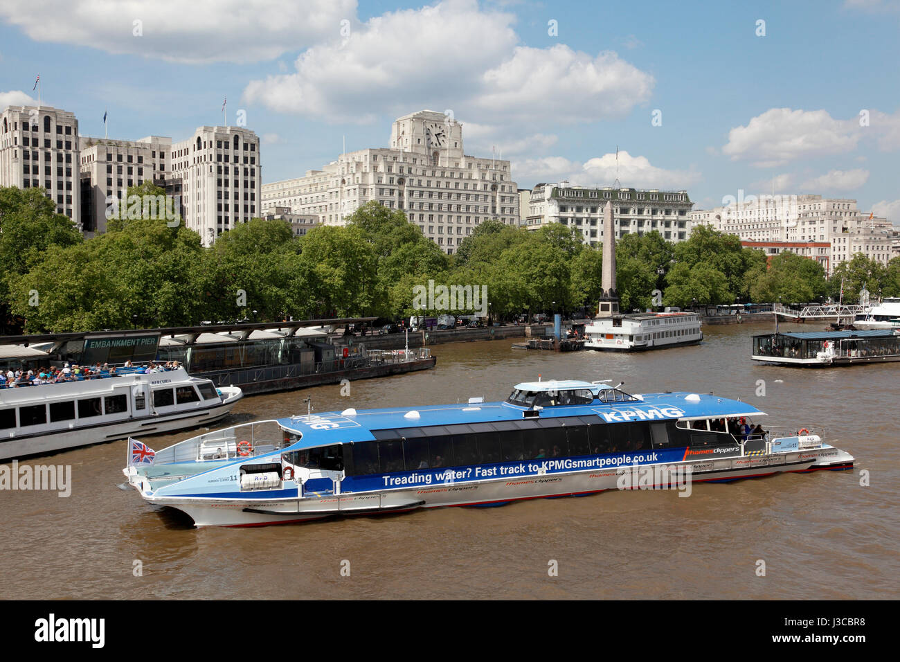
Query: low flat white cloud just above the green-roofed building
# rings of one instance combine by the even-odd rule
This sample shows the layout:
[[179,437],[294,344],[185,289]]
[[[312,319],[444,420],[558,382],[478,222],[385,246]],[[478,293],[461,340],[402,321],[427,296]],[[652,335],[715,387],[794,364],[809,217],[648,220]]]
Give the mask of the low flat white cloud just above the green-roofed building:
[[610,152],[602,157],[589,159],[585,163],[563,157],[513,161],[512,172],[517,182],[567,180],[576,186],[613,186],[618,173],[622,186],[675,190],[686,189],[703,178],[693,168],[689,170],[657,168],[646,157],[633,157],[625,150],[619,150],[618,169],[616,153]]

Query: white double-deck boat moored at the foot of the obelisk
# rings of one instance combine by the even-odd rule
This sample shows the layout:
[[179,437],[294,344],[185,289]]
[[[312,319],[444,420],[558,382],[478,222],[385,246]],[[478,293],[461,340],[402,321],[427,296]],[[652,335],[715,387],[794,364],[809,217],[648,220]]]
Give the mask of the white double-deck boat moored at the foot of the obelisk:
[[593,320],[584,329],[584,347],[639,351],[703,340],[697,313],[635,313]]

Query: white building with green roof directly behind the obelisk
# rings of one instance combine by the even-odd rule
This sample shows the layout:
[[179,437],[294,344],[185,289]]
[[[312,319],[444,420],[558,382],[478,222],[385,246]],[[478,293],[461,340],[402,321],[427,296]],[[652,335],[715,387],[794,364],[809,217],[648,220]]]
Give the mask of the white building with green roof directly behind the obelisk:
[[636,188],[584,188],[538,184],[531,191],[525,227],[537,230],[558,222],[581,232],[584,243],[603,241],[603,207],[613,205],[616,239],[626,234],[638,236],[658,231],[668,241],[690,236],[690,201],[687,191],[642,190]]

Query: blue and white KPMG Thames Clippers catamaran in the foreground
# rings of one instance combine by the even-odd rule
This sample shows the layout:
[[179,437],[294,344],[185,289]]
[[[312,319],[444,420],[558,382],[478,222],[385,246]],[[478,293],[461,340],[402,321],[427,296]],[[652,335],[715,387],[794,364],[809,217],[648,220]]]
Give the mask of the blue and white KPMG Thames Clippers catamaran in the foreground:
[[853,466],[821,431],[753,427],[763,415],[712,394],[527,382],[504,402],[293,416],[158,452],[130,440],[123,472],[197,526],[254,526]]

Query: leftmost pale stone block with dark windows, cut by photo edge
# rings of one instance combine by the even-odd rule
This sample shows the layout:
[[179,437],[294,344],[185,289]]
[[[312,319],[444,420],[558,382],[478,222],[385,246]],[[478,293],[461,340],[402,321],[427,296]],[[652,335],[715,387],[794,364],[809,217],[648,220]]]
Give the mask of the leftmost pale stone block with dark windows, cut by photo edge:
[[0,113],[0,186],[43,187],[57,213],[78,223],[78,121],[42,105],[11,105]]

